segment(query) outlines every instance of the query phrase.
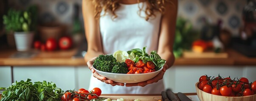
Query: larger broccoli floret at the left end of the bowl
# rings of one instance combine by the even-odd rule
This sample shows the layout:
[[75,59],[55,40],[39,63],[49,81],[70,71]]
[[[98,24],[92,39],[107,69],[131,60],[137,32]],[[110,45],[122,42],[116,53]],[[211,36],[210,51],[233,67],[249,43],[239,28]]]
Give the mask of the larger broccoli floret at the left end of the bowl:
[[103,72],[111,72],[116,59],[113,55],[99,55],[93,63],[93,67]]

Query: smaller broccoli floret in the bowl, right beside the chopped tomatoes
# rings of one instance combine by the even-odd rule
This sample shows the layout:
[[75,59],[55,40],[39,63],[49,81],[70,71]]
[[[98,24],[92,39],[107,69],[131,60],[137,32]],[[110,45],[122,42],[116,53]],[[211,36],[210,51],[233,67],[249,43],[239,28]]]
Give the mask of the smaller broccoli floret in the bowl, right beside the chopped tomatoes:
[[126,74],[127,72],[129,72],[129,70],[124,62],[116,62],[112,69],[112,73]]

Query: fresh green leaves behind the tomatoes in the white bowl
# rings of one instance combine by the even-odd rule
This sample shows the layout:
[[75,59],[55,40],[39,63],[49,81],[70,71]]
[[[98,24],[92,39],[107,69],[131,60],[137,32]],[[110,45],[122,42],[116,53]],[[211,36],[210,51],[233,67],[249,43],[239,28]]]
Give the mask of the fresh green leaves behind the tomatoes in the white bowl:
[[144,63],[146,63],[147,61],[152,61],[156,66],[155,70],[159,70],[160,67],[162,67],[166,62],[166,60],[162,59],[155,50],[150,52],[150,55],[148,53],[146,53],[146,47],[143,47],[143,50],[141,50],[140,48],[135,48],[135,49],[127,51],[127,53],[135,54],[136,57],[133,59],[133,61],[135,63],[137,63],[140,59]]

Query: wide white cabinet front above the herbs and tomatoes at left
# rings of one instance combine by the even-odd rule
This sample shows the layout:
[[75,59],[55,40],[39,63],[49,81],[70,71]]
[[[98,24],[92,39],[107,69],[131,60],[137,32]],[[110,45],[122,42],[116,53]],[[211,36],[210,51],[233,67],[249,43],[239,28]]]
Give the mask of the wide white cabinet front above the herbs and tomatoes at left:
[[31,79],[32,82],[46,80],[54,82],[62,90],[76,88],[75,67],[73,66],[14,66],[14,82]]

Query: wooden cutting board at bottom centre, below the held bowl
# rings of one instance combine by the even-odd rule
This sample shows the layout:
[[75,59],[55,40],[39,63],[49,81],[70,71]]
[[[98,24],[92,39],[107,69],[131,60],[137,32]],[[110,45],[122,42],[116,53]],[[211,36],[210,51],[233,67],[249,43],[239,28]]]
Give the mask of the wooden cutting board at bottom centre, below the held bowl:
[[140,99],[141,101],[159,101],[162,98],[160,94],[102,94],[101,97],[110,98],[111,100],[124,98],[125,101],[134,101],[135,99]]

